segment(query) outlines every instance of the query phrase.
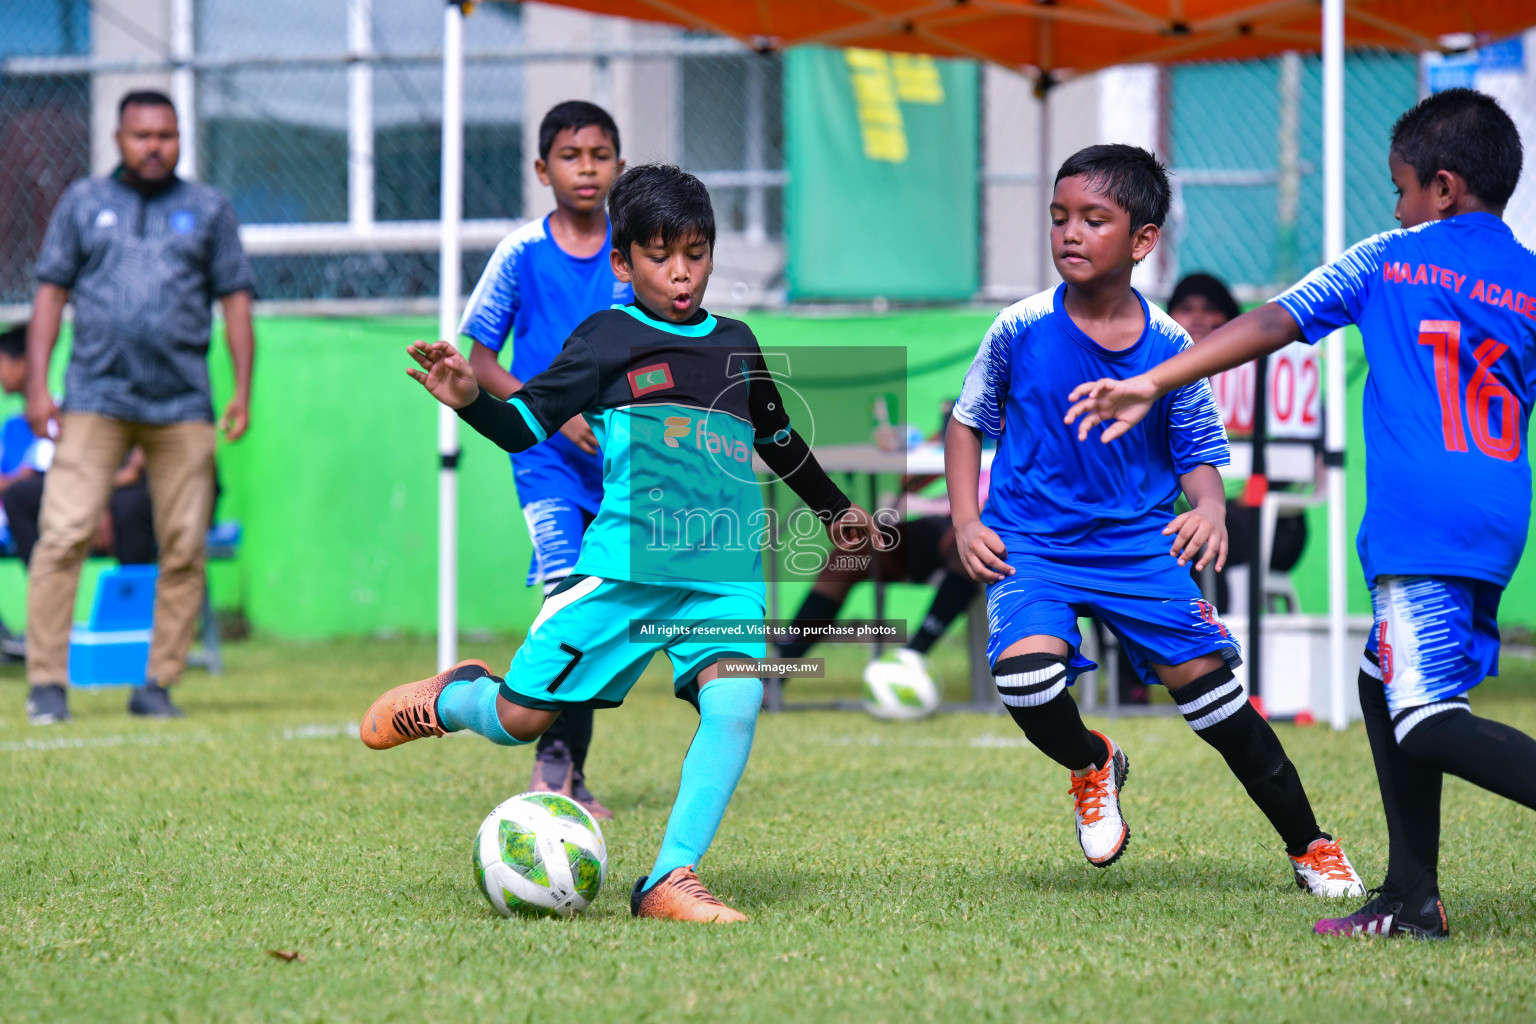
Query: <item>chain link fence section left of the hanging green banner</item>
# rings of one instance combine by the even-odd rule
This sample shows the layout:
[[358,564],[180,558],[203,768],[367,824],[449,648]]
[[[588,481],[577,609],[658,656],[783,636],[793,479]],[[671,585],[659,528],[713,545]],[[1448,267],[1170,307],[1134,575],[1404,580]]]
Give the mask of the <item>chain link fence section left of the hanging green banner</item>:
[[[181,57],[172,43],[178,9],[192,26]],[[531,167],[538,123],[573,97],[614,114],[631,163],[679,163],[705,180],[725,263],[734,263],[727,269],[746,278],[728,282],[737,298],[774,289],[785,183],[780,58],[617,20],[585,18],[584,35],[559,17],[541,5],[485,3],[465,20],[465,292],[496,241],[551,209]],[[441,54],[438,3],[37,0],[8,14],[0,306],[29,299],[63,189],[115,161],[101,124],[115,120],[117,98],[129,88],[177,95],[177,69],[190,74],[195,97],[181,111],[181,169],[230,197],[260,298],[430,299]]]

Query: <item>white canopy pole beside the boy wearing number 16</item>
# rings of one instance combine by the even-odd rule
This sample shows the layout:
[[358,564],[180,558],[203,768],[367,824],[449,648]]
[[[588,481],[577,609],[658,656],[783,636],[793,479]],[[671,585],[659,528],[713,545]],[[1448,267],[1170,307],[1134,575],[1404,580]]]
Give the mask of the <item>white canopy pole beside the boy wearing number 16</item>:
[[[1344,0],[1322,0],[1322,256],[1344,253]],[[1349,725],[1344,688],[1349,660],[1349,554],[1344,490],[1344,332],[1329,335],[1327,348],[1329,465],[1329,720]]]

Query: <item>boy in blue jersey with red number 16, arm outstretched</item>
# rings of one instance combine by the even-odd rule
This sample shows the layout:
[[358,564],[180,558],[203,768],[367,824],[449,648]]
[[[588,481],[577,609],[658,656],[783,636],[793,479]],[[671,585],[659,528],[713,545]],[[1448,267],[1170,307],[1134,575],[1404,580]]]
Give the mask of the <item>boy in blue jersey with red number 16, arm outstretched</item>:
[[[1521,137],[1471,89],[1436,94],[1392,129],[1399,230],[1141,376],[1072,391],[1080,436],[1134,428],[1169,390],[1356,324],[1366,342],[1366,517],[1358,550],[1376,628],[1359,669],[1390,840],[1387,877],[1321,935],[1450,933],[1439,897],[1445,772],[1536,808],[1536,740],[1471,714],[1498,674],[1499,597],[1530,522],[1536,253],[1501,220]],[[1098,445],[1091,445],[1097,448]]]

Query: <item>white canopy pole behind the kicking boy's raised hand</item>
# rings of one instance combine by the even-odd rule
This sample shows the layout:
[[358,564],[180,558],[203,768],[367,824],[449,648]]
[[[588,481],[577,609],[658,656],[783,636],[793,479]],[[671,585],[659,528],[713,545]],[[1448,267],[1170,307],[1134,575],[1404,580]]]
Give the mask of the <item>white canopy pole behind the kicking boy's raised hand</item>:
[[[464,215],[464,11],[442,18],[442,246],[438,250],[438,338],[458,344],[459,221]],[[438,671],[459,657],[459,421],[438,407]]]

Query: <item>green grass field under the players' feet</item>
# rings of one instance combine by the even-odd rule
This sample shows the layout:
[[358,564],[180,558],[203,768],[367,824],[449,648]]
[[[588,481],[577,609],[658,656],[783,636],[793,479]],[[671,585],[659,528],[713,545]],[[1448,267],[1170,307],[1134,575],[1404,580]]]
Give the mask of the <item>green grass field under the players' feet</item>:
[[[501,665],[510,643],[467,654]],[[0,1018],[6,1021],[1531,1019],[1536,820],[1445,788],[1448,943],[1321,941],[1275,837],[1177,718],[1123,720],[1132,846],[1072,837],[1064,774],[1005,717],[763,718],[703,864],[742,927],[634,921],[693,729],[651,671],[598,717],[588,774],[617,812],[584,917],[504,921],[475,889],[481,817],[527,749],[475,738],[373,752],[355,726],[425,674],[412,640],[250,642],[189,677],[189,717],[123,691],[31,729],[0,676]],[[856,651],[833,651],[843,680]],[[940,665],[960,679],[957,648]],[[1536,729],[1536,665],[1478,697]],[[809,686],[809,685],[806,685]],[[849,689],[848,683],[843,683]],[[1283,726],[1324,827],[1378,880],[1364,732]],[[1349,909],[1353,909],[1350,901]],[[270,949],[296,950],[283,963]]]

